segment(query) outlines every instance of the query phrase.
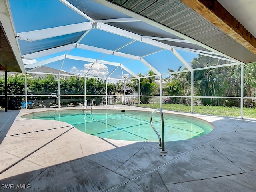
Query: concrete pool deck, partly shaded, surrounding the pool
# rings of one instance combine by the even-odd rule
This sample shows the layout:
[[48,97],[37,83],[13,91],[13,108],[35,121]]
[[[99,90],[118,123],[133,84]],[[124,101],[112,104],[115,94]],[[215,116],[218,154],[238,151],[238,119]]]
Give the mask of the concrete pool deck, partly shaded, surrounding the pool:
[[[154,111],[126,105],[95,109]],[[207,120],[214,130],[199,138],[165,142],[167,153],[162,154],[157,142],[99,138],[65,122],[21,117],[44,110],[59,109],[0,113],[1,192],[256,191],[254,119],[164,110]]]

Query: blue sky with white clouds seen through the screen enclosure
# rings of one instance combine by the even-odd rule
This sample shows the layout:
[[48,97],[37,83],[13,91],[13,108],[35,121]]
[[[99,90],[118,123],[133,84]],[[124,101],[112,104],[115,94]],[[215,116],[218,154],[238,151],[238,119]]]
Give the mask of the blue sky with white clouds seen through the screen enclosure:
[[[60,1],[53,0],[46,2],[48,3],[45,3],[44,1],[9,1],[16,33],[88,22],[86,18],[84,18],[80,14],[77,14],[66,5],[62,4]],[[180,62],[180,60],[178,60],[170,50],[162,50],[162,48],[140,41],[133,42],[133,39],[131,38],[112,34],[110,32],[99,29],[90,30],[86,34],[86,36],[84,36],[84,38],[80,39],[82,34],[84,34],[85,32],[86,31],[81,31],[74,34],[52,37],[49,39],[37,40],[32,42],[18,40],[18,43],[22,55],[25,55],[39,50],[46,50],[49,48],[54,48],[56,46],[76,43],[79,40],[80,44],[112,51],[117,50],[121,53],[132,54],[142,57],[144,58],[144,60],[146,60],[146,62],[148,62],[148,64],[153,66],[153,68],[155,68],[162,74],[167,73],[168,68],[176,71],[179,66],[184,66],[182,62]],[[126,44],[128,45],[124,46]],[[198,56],[197,54],[190,52],[184,52],[180,50],[177,51],[188,63],[191,62],[194,57]],[[71,51],[66,50],[57,54],[52,54],[32,60],[24,60],[24,64],[39,62],[63,54],[117,62],[123,64],[129,70],[134,72],[134,74],[147,74],[150,70],[148,66],[146,66],[139,60],[132,60],[131,58],[109,55],[101,52],[84,50],[81,48],[75,48]],[[109,76],[110,78],[122,78],[123,75],[126,75],[128,77],[132,76],[125,70],[123,70],[122,72],[120,67],[116,69],[116,66],[111,66],[107,64],[95,63],[92,66],[92,62],[85,62],[73,59],[65,59],[63,65],[62,62],[63,60],[59,60],[57,62],[46,64],[44,66],[56,69],[60,69],[62,66],[61,70],[81,76],[84,76],[85,74],[99,77]],[[90,71],[88,72],[89,69]]]

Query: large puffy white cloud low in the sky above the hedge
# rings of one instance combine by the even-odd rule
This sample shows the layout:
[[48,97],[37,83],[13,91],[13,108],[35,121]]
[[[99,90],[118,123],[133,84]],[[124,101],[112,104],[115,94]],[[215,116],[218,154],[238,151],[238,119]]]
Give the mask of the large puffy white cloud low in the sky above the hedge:
[[[84,64],[84,68],[81,70],[73,66],[70,70],[70,73],[84,76],[88,72],[92,64],[93,63]],[[94,63],[88,75],[94,77],[106,77],[108,75],[108,66],[100,63]]]

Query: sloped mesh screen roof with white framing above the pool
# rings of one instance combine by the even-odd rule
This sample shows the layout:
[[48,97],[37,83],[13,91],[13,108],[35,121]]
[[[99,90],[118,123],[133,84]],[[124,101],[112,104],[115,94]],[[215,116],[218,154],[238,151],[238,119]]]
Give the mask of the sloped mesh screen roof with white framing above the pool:
[[31,61],[24,60],[27,71],[48,66],[59,74],[122,79],[139,70],[161,75],[183,66],[192,71],[188,63],[198,54],[239,62],[97,1],[8,2],[22,58]]

